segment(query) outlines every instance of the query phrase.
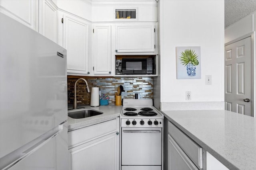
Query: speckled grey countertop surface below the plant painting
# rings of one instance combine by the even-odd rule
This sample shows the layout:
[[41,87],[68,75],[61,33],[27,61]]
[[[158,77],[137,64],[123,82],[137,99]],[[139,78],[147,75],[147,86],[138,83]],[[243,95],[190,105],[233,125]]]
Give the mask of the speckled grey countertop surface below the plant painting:
[[227,168],[256,170],[256,118],[226,110],[162,112]]

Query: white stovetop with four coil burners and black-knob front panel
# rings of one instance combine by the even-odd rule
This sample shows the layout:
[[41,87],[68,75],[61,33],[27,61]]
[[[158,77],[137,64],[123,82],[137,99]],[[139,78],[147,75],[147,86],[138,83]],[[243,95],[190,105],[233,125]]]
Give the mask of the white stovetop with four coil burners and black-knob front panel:
[[120,115],[121,127],[162,127],[164,115],[152,99],[124,99]]

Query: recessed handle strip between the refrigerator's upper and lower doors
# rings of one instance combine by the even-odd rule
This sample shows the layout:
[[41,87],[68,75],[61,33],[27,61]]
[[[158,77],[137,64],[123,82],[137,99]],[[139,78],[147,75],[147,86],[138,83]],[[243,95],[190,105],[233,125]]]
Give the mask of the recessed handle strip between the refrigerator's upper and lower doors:
[[60,125],[54,127],[50,131],[44,133],[40,137],[37,137],[33,141],[30,141],[26,145],[23,145],[22,147],[14,150],[13,152],[10,152],[9,154],[3,156],[0,158],[0,170],[7,170],[44,146],[46,143],[48,143],[51,139],[53,139],[58,133],[60,133],[63,130],[63,124],[66,123],[66,121],[62,122]]

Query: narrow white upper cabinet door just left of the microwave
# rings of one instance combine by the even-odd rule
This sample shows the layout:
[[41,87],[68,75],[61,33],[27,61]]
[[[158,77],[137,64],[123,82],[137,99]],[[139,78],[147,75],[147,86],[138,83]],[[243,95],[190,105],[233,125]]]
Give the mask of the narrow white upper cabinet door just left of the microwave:
[[94,74],[111,74],[111,25],[94,25]]

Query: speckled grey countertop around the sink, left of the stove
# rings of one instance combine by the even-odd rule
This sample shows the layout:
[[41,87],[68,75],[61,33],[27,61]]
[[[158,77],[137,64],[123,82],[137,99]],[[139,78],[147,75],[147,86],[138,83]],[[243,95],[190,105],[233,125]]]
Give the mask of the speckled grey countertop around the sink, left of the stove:
[[101,111],[103,112],[103,114],[92,116],[92,117],[86,117],[82,119],[73,119],[71,117],[68,117],[68,131],[73,131],[75,129],[80,129],[82,127],[87,127],[90,125],[115,119],[116,117],[120,116],[120,111],[122,108],[122,106],[115,106],[115,105],[106,105],[106,106],[98,106],[98,107],[91,107],[91,106],[79,106],[79,107],[85,107],[86,109],[94,109],[96,111]]

